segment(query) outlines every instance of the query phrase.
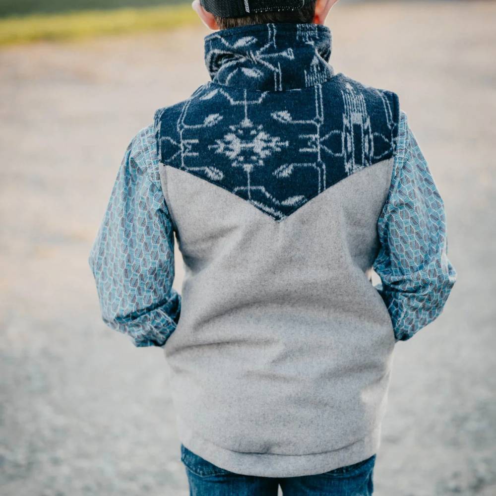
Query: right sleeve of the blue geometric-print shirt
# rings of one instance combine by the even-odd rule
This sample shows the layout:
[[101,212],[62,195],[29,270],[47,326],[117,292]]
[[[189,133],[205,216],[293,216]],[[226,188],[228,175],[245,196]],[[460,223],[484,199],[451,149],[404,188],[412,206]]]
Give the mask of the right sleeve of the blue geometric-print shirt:
[[377,222],[375,286],[391,316],[396,341],[410,339],[442,311],[456,280],[448,259],[444,203],[400,113],[388,198]]

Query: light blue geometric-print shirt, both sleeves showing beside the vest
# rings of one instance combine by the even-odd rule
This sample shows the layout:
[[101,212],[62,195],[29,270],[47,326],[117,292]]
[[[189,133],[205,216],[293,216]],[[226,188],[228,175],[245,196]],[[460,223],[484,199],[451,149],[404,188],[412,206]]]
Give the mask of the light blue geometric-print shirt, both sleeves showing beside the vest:
[[[132,139],[89,256],[104,322],[139,347],[164,346],[181,312],[156,149],[151,125]],[[407,340],[441,313],[456,272],[447,257],[443,201],[404,112],[377,231],[376,289],[396,339]]]

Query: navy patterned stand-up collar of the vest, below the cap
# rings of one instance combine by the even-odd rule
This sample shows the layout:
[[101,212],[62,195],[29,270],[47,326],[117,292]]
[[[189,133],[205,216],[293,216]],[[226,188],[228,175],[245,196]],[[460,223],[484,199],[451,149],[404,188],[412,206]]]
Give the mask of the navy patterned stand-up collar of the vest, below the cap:
[[255,24],[204,38],[214,83],[258,91],[305,88],[329,80],[332,36],[321,24]]

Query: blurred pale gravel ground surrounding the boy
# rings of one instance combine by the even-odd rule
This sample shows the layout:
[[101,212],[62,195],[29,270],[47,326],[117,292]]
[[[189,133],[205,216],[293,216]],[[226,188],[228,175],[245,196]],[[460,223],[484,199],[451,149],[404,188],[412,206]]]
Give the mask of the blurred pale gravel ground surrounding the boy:
[[[338,5],[331,63],[396,91],[447,212],[443,314],[395,350],[378,496],[496,494],[493,2]],[[207,80],[200,25],[0,51],[0,494],[187,494],[161,350],[87,264],[125,147]],[[182,281],[182,262],[177,256]]]

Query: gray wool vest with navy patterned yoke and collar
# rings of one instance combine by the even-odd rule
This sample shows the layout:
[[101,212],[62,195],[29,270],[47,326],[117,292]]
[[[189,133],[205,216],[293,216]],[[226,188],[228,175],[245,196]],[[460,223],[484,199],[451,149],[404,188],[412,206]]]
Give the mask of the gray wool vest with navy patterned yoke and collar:
[[399,105],[335,74],[328,28],[205,37],[212,81],[157,111],[185,266],[164,353],[183,444],[292,477],[377,451],[394,333],[371,282]]

